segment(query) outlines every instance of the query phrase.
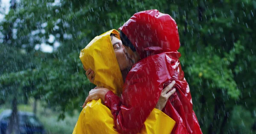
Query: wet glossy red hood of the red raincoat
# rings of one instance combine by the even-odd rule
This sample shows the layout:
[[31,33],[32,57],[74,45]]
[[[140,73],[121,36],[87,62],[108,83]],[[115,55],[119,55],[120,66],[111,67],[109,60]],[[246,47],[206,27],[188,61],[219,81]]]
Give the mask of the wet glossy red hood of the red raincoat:
[[134,14],[119,30],[128,37],[142,59],[158,53],[175,52],[180,47],[175,20],[156,9]]

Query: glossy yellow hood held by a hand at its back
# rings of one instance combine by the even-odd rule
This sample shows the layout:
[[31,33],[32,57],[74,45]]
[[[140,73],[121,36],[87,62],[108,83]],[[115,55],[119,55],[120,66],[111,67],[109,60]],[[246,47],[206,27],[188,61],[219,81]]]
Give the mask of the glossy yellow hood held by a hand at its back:
[[120,95],[124,83],[111,43],[111,33],[119,37],[119,32],[115,29],[96,36],[81,50],[79,58],[86,70],[90,68],[95,73],[93,84],[108,88]]

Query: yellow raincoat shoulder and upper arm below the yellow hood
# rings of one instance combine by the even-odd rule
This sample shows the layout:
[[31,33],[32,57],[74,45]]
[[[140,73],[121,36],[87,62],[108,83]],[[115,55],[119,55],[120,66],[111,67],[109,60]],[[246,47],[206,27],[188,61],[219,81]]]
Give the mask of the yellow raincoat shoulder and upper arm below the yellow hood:
[[118,134],[113,115],[101,100],[92,100],[81,111],[73,134]]

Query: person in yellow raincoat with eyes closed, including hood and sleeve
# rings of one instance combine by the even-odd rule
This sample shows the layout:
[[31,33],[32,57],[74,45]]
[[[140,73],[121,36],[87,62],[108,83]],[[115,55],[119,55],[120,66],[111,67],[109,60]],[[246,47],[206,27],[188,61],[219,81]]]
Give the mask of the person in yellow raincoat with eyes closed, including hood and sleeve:
[[[124,84],[121,70],[130,67],[125,53],[117,55],[114,49],[123,47],[122,43],[112,44],[111,33],[118,39],[119,32],[111,30],[96,36],[80,53],[80,59],[86,70],[95,71],[93,83],[105,87],[120,95]],[[117,46],[116,46],[117,45]],[[114,47],[114,48],[113,48]],[[118,51],[118,50],[117,50]],[[171,88],[171,87],[169,87]],[[164,89],[165,90],[165,89]],[[169,98],[169,97],[168,97]],[[99,100],[92,100],[82,109],[73,134],[117,134],[113,115],[108,107]],[[132,123],[132,122],[131,122]],[[171,126],[171,127],[170,127]],[[175,121],[158,109],[154,109],[141,128],[142,134],[170,134]]]

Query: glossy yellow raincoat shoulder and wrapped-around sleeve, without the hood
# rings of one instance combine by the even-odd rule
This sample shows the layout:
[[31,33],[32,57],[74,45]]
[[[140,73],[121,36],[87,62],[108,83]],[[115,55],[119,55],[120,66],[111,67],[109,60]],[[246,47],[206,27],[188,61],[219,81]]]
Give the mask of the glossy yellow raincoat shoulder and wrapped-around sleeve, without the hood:
[[[131,123],[131,122],[130,122]],[[172,127],[166,127],[171,126]],[[170,134],[175,121],[158,109],[154,109],[139,134]],[[101,100],[92,100],[79,115],[73,134],[119,134],[113,115]]]

